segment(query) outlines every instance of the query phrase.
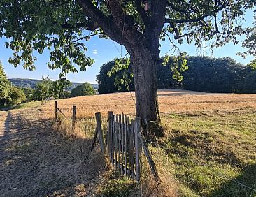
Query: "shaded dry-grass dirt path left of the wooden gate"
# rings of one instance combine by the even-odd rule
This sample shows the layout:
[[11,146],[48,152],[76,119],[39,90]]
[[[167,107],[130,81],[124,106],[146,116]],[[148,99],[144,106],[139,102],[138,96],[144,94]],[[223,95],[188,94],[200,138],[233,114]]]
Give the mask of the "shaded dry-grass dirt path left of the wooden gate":
[[0,113],[0,196],[94,196],[104,157],[45,117],[41,108]]

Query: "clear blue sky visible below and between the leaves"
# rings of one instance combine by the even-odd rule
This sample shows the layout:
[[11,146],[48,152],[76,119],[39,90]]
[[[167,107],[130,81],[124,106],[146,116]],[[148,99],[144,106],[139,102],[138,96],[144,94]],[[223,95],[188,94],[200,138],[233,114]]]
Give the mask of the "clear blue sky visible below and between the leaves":
[[[246,14],[246,24],[245,27],[250,27],[253,23],[253,11],[250,10]],[[243,40],[244,36],[241,37]],[[43,75],[49,75],[53,80],[57,80],[59,71],[52,71],[47,68],[47,62],[50,57],[50,53],[45,51],[43,54],[38,54],[36,57],[38,60],[36,61],[36,71],[28,71],[22,68],[22,66],[18,66],[14,68],[13,65],[8,63],[8,58],[12,56],[12,51],[10,49],[6,49],[4,42],[6,40],[4,38],[0,38],[0,61],[3,64],[3,68],[5,69],[6,75],[8,78],[33,78],[33,79],[41,79]],[[91,82],[95,83],[96,75],[99,74],[99,70],[102,64],[107,61],[113,60],[115,57],[121,57],[121,46],[110,39],[99,39],[98,37],[93,37],[90,41],[85,43],[87,45],[87,56],[92,57],[95,60],[95,63],[92,67],[87,68],[87,71],[79,72],[79,73],[70,73],[68,75],[68,79],[71,82]],[[180,50],[186,51],[189,55],[200,55],[201,52],[198,50],[193,44],[187,45],[179,45]],[[161,56],[163,56],[166,52],[169,51],[169,41],[161,42]],[[234,45],[232,43],[226,44],[222,48],[213,49],[213,57],[232,57],[237,62],[241,64],[247,64],[250,62],[253,57],[248,57],[243,59],[236,55],[236,52],[242,52],[246,49],[241,48],[241,44]],[[126,54],[125,48],[122,47],[122,56]],[[208,51],[208,54],[210,52]]]

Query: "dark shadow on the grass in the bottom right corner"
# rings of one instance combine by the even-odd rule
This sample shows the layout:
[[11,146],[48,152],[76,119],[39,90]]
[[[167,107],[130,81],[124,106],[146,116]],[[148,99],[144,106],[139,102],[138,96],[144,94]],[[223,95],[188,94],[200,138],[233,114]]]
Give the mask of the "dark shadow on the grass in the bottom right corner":
[[227,182],[219,189],[213,191],[210,196],[223,197],[253,197],[256,196],[256,163],[243,168],[241,175],[235,179],[225,177]]

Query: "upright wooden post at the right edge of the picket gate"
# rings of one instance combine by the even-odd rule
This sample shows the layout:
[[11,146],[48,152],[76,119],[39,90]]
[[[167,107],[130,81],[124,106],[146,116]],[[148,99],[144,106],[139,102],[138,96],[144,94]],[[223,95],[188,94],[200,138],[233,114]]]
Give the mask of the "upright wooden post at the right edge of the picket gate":
[[134,140],[135,140],[135,170],[136,170],[136,182],[141,179],[141,165],[140,165],[140,142],[138,139],[138,133],[141,132],[141,118],[137,117],[134,122]]

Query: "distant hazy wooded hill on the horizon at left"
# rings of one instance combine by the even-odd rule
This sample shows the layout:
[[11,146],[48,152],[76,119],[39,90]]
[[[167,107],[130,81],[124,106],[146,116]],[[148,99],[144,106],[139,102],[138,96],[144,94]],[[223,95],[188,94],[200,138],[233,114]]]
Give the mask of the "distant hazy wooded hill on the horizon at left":
[[[10,80],[10,82],[12,82],[13,85],[15,85],[17,87],[30,87],[32,89],[35,89],[36,84],[41,81],[41,80],[22,79],[22,78],[12,78],[12,79],[8,79],[8,80]],[[78,85],[81,85],[81,84],[82,83],[73,82],[71,84],[71,86],[68,88],[68,90],[74,89],[75,87],[77,87]],[[94,89],[98,89],[99,86],[97,84],[92,84],[92,87]]]

